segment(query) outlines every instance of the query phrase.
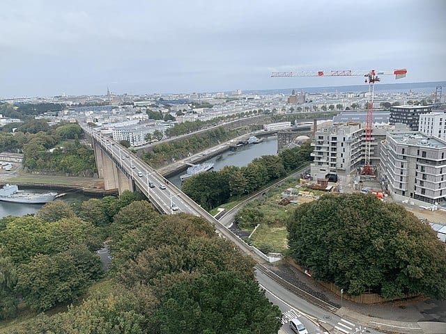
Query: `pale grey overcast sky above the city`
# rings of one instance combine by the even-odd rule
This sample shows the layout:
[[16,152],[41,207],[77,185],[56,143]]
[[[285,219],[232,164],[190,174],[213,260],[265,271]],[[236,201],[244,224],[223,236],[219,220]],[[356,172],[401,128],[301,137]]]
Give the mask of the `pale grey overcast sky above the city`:
[[1,0],[0,97],[346,86],[394,70],[446,80],[443,0]]

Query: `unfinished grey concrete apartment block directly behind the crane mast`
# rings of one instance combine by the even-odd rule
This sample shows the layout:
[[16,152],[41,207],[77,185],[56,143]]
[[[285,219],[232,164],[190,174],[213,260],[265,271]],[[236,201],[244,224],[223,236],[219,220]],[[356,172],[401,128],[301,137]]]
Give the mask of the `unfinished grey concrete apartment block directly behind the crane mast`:
[[[374,127],[370,146],[370,165],[379,164],[380,141],[385,139],[387,127]],[[312,142],[313,162],[310,165],[314,179],[337,175],[347,181],[352,172],[360,172],[365,159],[365,127],[360,123],[332,124],[326,122],[318,129]]]

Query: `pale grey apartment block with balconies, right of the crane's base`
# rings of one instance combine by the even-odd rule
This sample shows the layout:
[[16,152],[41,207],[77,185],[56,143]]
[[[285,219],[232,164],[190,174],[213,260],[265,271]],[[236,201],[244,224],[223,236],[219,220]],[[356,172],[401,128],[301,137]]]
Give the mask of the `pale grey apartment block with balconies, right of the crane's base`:
[[380,173],[397,200],[446,202],[446,141],[420,132],[387,133]]

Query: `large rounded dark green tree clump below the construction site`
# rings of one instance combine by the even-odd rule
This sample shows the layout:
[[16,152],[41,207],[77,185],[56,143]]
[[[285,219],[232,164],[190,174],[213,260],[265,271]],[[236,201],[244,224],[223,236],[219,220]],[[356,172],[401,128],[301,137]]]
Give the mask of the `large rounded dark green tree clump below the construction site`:
[[401,205],[368,194],[325,195],[288,223],[291,256],[348,294],[446,298],[445,245]]

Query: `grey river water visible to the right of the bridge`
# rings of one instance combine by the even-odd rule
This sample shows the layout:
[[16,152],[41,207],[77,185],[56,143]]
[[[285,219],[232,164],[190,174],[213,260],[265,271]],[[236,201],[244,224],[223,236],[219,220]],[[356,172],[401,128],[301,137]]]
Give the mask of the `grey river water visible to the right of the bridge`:
[[[277,136],[270,136],[263,138],[263,141],[258,144],[248,144],[240,146],[235,151],[226,151],[220,156],[213,157],[203,162],[213,162],[214,169],[220,170],[224,166],[247,166],[252,160],[261,157],[262,155],[275,155],[277,154]],[[177,175],[169,177],[169,181],[181,188],[180,175],[185,172],[181,172]]]

